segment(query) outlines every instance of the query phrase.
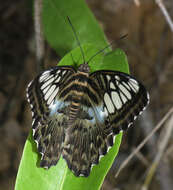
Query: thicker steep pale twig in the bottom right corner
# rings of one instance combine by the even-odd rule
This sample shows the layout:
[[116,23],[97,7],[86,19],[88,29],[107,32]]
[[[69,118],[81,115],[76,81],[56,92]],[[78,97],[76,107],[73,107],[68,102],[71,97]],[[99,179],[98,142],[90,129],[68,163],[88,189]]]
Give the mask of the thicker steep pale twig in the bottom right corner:
[[169,121],[167,122],[167,125],[166,125],[166,132],[164,133],[164,138],[160,141],[160,145],[158,147],[158,152],[157,152],[157,155],[153,161],[153,163],[151,164],[151,167],[148,171],[148,174],[147,174],[147,177],[145,179],[145,182],[144,182],[144,185],[142,186],[142,190],[143,189],[148,189],[150,183],[151,183],[151,180],[155,174],[155,171],[160,163],[160,160],[163,156],[163,153],[165,151],[165,148],[168,144],[168,141],[172,135],[172,130],[173,130],[173,115],[171,116],[171,118],[169,119]]

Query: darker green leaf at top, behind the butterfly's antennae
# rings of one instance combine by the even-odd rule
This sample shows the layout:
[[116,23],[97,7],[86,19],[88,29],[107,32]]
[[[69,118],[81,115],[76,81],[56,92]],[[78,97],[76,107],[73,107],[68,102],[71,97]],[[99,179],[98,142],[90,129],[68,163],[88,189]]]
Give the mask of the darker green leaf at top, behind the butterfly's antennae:
[[43,0],[43,31],[60,56],[78,44],[67,20],[69,16],[81,44],[94,43],[103,48],[106,37],[84,0]]

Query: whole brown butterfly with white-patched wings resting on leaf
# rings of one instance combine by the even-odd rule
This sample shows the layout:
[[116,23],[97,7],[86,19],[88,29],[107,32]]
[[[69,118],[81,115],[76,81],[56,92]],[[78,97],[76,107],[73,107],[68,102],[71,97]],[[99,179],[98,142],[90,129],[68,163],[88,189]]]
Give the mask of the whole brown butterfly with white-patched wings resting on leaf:
[[40,166],[50,168],[62,156],[76,176],[85,177],[149,102],[134,77],[110,70],[90,73],[88,63],[43,71],[28,85],[27,98]]

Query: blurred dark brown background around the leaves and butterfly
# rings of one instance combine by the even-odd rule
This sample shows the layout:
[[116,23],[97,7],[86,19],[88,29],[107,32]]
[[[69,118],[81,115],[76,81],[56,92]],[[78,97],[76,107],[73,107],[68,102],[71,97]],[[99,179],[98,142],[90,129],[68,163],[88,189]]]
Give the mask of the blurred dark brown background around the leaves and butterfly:
[[[151,163],[157,157],[161,143],[168,138],[165,134],[170,122],[153,135],[115,178],[123,160],[173,106],[173,31],[156,2],[87,0],[109,41],[128,33],[120,48],[128,56],[131,74],[147,87],[151,96],[147,110],[123,135],[120,152],[102,190],[142,190]],[[173,20],[172,0],[163,3]],[[36,76],[32,12],[29,1],[1,2],[0,190],[14,188],[24,143],[31,128],[25,89]],[[55,65],[57,58],[58,55],[46,44],[46,63]],[[167,141],[160,164],[149,183],[150,190],[171,190],[173,187],[173,132]]]

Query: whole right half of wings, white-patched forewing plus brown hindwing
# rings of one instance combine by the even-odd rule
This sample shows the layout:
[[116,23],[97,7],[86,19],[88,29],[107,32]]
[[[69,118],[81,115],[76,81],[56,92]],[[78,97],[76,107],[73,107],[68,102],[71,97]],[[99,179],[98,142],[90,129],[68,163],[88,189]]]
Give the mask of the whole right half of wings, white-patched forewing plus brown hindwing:
[[90,75],[78,119],[66,130],[63,158],[76,176],[88,176],[92,165],[113,146],[146,107],[149,96],[135,78],[121,72]]

